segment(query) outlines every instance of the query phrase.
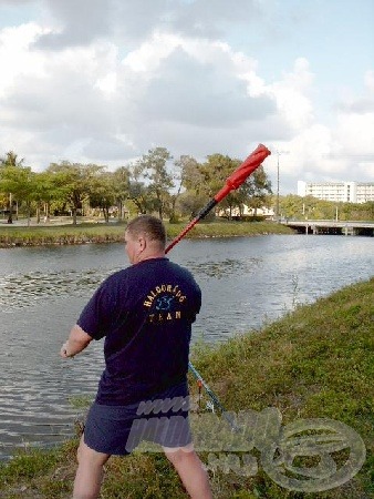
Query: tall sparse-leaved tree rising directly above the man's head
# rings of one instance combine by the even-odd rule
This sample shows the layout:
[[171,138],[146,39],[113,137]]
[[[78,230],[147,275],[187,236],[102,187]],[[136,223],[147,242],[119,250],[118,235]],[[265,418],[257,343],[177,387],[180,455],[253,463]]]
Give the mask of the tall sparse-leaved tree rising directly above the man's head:
[[143,169],[145,177],[149,180],[148,190],[160,220],[167,211],[169,190],[174,187],[173,175],[166,167],[166,163],[172,159],[173,156],[165,147],[156,147],[149,150],[148,154],[138,161],[138,166]]

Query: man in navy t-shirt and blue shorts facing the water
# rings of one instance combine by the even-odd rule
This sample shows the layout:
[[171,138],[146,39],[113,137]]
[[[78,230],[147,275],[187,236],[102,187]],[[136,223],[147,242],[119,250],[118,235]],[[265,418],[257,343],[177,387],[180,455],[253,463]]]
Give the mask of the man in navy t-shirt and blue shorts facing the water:
[[[212,497],[186,407],[191,324],[201,293],[188,271],[165,257],[165,244],[158,218],[129,222],[125,246],[132,265],[104,281],[61,348],[63,358],[73,357],[105,337],[105,369],[77,450],[74,499],[97,498],[104,464],[129,454],[142,437],[163,446],[191,498]],[[158,414],[147,407],[158,407]]]

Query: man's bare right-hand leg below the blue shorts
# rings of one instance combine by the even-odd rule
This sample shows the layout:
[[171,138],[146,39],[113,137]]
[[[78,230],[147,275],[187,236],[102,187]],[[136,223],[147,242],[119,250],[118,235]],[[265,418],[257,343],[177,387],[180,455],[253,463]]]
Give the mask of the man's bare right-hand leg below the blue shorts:
[[186,487],[191,499],[212,499],[208,473],[202,467],[202,462],[195,452],[193,446],[172,449],[164,447],[168,460]]

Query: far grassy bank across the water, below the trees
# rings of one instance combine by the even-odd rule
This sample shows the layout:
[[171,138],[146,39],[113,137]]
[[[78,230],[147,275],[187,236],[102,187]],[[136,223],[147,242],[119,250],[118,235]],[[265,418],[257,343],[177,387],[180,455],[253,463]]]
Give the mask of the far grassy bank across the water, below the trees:
[[[166,224],[170,240],[186,224]],[[49,226],[0,226],[0,247],[41,246],[85,243],[113,243],[124,240],[126,224],[77,224]],[[293,232],[272,222],[214,222],[196,225],[186,237],[231,237],[261,234],[292,234]]]

